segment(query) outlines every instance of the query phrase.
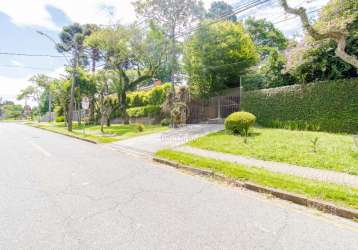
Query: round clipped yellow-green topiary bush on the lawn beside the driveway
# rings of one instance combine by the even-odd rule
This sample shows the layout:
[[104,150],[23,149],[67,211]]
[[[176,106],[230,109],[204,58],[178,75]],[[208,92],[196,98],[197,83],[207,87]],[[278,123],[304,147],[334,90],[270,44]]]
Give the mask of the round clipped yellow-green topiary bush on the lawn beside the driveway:
[[225,129],[234,134],[247,136],[249,128],[256,122],[256,116],[249,112],[235,112],[225,119]]

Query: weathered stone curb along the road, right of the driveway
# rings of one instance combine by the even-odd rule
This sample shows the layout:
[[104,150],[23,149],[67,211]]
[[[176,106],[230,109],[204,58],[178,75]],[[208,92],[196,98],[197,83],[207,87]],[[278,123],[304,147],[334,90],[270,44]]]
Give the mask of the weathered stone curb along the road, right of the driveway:
[[345,219],[350,219],[350,220],[358,219],[358,210],[338,207],[331,203],[306,198],[301,195],[280,191],[280,190],[274,189],[274,188],[264,187],[264,186],[257,185],[257,184],[251,183],[251,182],[234,180],[234,179],[231,179],[231,178],[224,176],[220,173],[215,173],[210,170],[204,170],[204,169],[198,169],[198,168],[194,168],[194,167],[190,167],[190,166],[185,166],[185,165],[182,165],[182,164],[170,161],[170,160],[166,160],[163,158],[154,157],[153,160],[155,162],[169,165],[169,166],[177,168],[177,169],[182,169],[182,170],[185,170],[185,171],[197,174],[197,175],[212,177],[218,181],[225,182],[225,183],[227,183],[229,185],[233,185],[235,187],[245,188],[247,190],[251,190],[254,192],[258,192],[258,193],[270,194],[276,198],[286,200],[286,201],[291,201],[295,204],[306,206],[309,208],[315,208],[319,211],[329,213],[329,214],[332,214],[335,216],[339,216],[339,217],[342,217]]

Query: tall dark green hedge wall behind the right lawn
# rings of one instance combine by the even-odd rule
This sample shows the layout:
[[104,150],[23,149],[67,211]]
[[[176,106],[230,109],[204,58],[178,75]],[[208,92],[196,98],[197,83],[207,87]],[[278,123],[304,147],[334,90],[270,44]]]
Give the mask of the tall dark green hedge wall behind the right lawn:
[[358,78],[244,92],[242,110],[267,127],[358,132]]

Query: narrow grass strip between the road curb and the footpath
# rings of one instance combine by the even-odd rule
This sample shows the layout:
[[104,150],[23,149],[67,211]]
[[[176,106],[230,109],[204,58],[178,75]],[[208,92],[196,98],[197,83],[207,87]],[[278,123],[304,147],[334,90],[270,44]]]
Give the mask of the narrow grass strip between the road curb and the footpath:
[[277,174],[265,169],[245,167],[243,165],[173,150],[159,151],[156,153],[156,156],[184,165],[193,166],[195,168],[209,169],[234,179],[250,181],[262,186],[358,209],[358,189],[356,188],[329,184],[286,174]]

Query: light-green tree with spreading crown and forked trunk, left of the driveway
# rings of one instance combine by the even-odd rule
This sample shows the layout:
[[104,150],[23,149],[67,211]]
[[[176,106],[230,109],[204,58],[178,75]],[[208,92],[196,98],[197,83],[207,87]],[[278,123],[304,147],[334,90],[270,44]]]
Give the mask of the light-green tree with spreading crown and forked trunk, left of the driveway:
[[127,115],[127,92],[150,80],[162,62],[162,57],[150,52],[150,41],[133,26],[118,25],[94,32],[88,42],[98,44],[106,60],[107,80],[118,96],[124,122]]

